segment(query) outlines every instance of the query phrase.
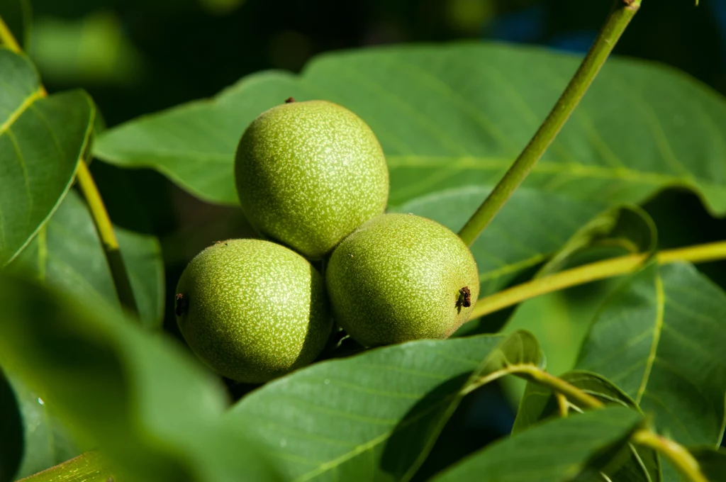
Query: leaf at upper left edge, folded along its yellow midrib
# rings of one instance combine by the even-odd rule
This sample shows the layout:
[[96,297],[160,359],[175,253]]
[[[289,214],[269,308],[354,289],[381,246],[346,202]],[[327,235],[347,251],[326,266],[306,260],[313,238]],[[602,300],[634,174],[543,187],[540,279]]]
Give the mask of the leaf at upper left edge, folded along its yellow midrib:
[[28,244],[68,192],[95,107],[83,91],[42,97],[38,73],[0,48],[0,266]]

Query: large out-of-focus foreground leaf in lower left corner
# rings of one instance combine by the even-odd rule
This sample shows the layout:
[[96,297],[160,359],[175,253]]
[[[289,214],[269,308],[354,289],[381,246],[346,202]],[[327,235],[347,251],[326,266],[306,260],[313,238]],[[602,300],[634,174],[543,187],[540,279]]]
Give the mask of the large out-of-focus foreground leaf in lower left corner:
[[0,277],[0,306],[0,364],[128,480],[278,480],[222,424],[219,380],[169,340],[23,278]]

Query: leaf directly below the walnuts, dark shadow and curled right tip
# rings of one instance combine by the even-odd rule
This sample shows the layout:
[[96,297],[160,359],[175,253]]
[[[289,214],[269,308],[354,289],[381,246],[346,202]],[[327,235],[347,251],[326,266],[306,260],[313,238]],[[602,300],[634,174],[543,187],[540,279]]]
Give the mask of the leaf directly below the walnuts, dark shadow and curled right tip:
[[542,363],[526,332],[376,348],[269,383],[227,422],[269,446],[290,480],[409,480],[483,377]]

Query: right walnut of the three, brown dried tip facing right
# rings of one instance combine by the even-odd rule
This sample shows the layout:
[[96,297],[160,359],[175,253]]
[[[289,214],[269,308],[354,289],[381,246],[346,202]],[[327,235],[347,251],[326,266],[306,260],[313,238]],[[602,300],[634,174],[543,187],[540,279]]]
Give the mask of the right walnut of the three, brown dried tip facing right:
[[340,242],[325,273],[333,314],[364,346],[447,338],[479,294],[476,261],[431,219],[383,214]]

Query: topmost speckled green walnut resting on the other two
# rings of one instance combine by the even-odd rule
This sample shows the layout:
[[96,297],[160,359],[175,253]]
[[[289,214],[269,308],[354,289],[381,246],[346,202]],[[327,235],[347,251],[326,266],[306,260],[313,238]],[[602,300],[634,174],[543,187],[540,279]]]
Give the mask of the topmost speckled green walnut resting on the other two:
[[322,100],[288,102],[253,120],[237,146],[234,176],[250,224],[309,259],[325,256],[388,201],[375,134]]

